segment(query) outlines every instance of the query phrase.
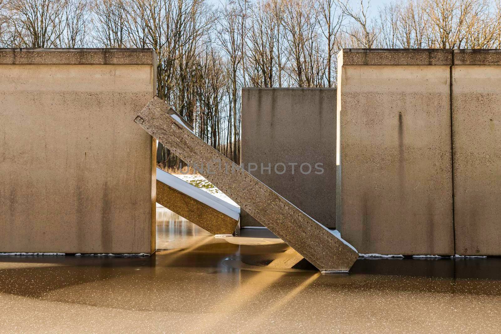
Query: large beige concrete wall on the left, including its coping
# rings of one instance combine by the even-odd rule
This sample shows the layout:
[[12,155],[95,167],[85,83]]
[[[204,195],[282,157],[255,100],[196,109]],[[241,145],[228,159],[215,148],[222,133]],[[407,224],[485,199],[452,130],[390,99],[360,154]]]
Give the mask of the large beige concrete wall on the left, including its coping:
[[155,249],[155,88],[151,50],[0,49],[1,252]]

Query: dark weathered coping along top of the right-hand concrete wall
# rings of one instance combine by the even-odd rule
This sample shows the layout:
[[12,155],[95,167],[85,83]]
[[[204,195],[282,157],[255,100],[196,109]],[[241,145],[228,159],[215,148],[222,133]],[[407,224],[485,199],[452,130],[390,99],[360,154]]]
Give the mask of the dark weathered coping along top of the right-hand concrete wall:
[[342,65],[501,65],[496,49],[343,49]]

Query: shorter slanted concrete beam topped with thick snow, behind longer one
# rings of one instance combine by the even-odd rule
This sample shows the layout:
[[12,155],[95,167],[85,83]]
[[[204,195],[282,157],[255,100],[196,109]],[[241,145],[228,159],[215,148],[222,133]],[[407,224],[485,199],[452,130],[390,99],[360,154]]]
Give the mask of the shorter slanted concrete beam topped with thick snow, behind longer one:
[[157,168],[157,203],[212,234],[233,233],[239,208]]

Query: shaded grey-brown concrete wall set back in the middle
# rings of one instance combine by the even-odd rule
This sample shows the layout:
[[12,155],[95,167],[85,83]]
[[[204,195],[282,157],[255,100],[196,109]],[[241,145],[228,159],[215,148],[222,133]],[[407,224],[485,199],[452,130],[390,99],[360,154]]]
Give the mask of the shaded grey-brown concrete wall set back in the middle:
[[[242,89],[241,162],[254,177],[328,228],[336,227],[336,89]],[[283,167],[276,164],[285,164]],[[301,164],[308,166],[301,172]],[[321,168],[315,165],[321,163]],[[271,166],[271,170],[261,170]],[[294,165],[294,173],[292,166]],[[253,169],[253,165],[251,165]],[[321,173],[321,174],[318,174]],[[261,226],[242,213],[240,226]]]

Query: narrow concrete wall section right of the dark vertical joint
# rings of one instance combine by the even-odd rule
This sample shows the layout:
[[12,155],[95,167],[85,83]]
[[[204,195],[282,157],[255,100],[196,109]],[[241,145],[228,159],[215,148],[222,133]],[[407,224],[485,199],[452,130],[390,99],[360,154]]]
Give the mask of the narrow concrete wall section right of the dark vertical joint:
[[501,255],[501,53],[454,52],[456,253]]

